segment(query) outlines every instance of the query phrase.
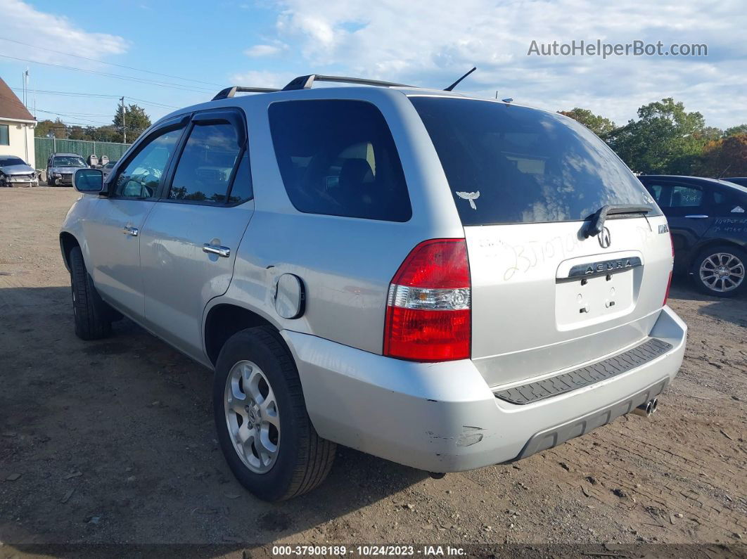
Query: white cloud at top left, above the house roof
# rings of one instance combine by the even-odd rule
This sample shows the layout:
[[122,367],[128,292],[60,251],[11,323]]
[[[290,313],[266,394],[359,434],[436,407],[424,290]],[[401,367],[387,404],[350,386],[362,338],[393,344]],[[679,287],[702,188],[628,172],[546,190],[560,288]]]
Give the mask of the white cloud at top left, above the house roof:
[[[66,16],[42,12],[22,0],[0,0],[0,13],[2,36],[7,39],[101,59],[111,54],[123,54],[128,48],[128,43],[123,37],[84,31]],[[75,59],[75,63],[71,64],[70,58],[63,54],[31,49],[8,41],[0,41],[0,52],[41,62],[67,63],[72,66],[91,64],[79,59]]]

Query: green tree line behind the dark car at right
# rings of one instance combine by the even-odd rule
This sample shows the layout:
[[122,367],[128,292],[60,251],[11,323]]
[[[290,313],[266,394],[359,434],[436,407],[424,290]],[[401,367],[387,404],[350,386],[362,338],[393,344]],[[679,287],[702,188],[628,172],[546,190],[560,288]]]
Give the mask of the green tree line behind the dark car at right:
[[558,112],[597,134],[634,172],[747,175],[747,124],[726,130],[707,126],[701,113],[688,113],[671,97],[643,105],[638,118],[622,126],[579,107]]

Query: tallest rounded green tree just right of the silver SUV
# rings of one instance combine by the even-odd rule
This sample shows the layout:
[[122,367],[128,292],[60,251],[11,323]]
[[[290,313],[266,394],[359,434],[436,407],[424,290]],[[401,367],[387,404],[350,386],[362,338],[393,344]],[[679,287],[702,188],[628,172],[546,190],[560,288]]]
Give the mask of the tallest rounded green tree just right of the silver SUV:
[[684,104],[669,97],[643,105],[638,116],[606,138],[627,166],[651,174],[690,174],[713,133],[703,115],[686,112]]

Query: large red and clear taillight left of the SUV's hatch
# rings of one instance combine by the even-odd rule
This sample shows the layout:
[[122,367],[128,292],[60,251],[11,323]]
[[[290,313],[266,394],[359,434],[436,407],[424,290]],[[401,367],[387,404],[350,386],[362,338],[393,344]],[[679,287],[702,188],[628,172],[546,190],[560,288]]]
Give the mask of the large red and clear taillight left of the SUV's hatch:
[[467,359],[471,337],[471,281],[465,240],[420,243],[389,285],[384,355],[413,361]]

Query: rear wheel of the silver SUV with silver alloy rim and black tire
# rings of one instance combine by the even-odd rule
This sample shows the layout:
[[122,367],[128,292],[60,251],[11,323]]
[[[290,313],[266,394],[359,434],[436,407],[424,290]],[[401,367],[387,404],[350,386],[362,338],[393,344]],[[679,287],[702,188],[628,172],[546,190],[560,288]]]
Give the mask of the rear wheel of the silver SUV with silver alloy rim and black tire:
[[259,499],[302,495],[329,473],[336,445],[311,425],[293,357],[273,328],[247,328],[220,350],[213,409],[231,471]]

